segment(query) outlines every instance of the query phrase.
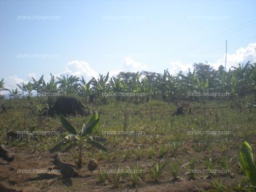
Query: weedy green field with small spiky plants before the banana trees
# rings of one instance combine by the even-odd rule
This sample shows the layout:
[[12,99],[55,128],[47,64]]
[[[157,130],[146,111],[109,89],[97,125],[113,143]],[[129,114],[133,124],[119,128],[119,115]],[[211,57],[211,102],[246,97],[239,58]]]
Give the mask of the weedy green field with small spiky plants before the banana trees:
[[[190,102],[191,114],[185,108],[180,116],[173,115],[176,103],[159,100],[86,104],[99,113],[94,135],[107,139],[108,152],[85,145],[79,174],[62,177],[27,173],[54,169],[49,150],[68,135],[59,116],[36,111],[36,98],[30,104],[26,99],[2,100],[7,113],[0,113],[0,141],[15,156],[10,162],[0,160],[0,191],[247,191],[250,180],[238,155],[243,141],[255,154],[256,109],[249,111],[247,102],[252,99],[241,99],[241,108],[230,108],[230,102],[221,100]],[[67,120],[79,130],[91,116]],[[8,131],[23,131],[23,136],[6,137]],[[36,131],[55,132],[28,134]],[[76,147],[64,148],[61,154],[67,163],[77,164]],[[92,159],[98,166],[90,172]]]

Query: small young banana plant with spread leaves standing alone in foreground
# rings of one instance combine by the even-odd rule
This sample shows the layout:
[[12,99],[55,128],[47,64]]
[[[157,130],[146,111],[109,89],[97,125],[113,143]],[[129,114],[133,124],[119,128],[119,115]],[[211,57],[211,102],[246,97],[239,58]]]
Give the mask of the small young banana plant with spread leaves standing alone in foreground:
[[100,150],[108,152],[108,149],[104,147],[100,142],[106,141],[105,138],[102,138],[100,136],[93,136],[92,134],[97,131],[100,125],[100,119],[99,114],[94,113],[92,118],[90,118],[89,122],[87,124],[83,124],[83,127],[80,129],[80,131],[77,131],[76,127],[74,125],[70,124],[68,120],[63,116],[60,115],[61,124],[63,127],[70,133],[65,138],[63,138],[60,143],[55,145],[50,152],[56,152],[58,150],[61,150],[61,148],[67,144],[70,144],[70,147],[76,146],[79,149],[79,157],[78,157],[78,163],[77,166],[79,168],[82,167],[82,150],[84,147],[84,144],[88,143],[92,145],[93,147],[99,148]]

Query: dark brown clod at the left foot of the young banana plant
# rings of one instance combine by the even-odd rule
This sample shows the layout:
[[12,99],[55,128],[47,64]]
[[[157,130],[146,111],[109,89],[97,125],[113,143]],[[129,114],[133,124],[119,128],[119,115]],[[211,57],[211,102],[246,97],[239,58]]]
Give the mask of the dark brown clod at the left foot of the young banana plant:
[[54,154],[51,162],[56,166],[56,169],[60,170],[63,177],[76,177],[79,175],[76,165],[65,163],[60,153]]

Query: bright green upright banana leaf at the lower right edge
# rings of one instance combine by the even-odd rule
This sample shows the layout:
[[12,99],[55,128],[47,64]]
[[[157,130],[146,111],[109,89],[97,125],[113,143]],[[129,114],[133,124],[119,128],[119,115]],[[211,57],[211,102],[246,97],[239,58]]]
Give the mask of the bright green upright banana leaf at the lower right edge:
[[253,191],[256,191],[256,164],[253,159],[252,147],[246,141],[241,145],[239,160],[246,177],[252,182]]

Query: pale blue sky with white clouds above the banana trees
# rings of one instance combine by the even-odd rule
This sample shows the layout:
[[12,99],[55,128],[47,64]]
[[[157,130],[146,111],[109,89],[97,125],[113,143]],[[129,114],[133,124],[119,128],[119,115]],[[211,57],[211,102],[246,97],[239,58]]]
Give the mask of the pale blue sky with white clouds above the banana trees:
[[226,39],[228,67],[254,62],[255,7],[248,0],[0,0],[0,79],[11,87],[50,73],[176,74],[205,61],[218,68]]

